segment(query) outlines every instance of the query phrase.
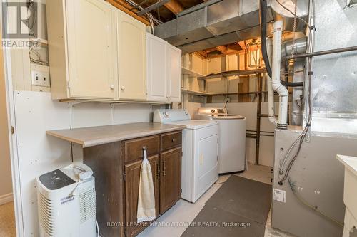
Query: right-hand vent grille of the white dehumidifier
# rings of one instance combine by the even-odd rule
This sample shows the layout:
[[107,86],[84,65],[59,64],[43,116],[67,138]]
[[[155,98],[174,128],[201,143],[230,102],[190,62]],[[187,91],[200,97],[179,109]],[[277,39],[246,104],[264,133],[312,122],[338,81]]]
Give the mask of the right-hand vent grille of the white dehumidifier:
[[86,222],[96,214],[96,191],[94,186],[82,190],[79,194],[79,210],[81,223]]

